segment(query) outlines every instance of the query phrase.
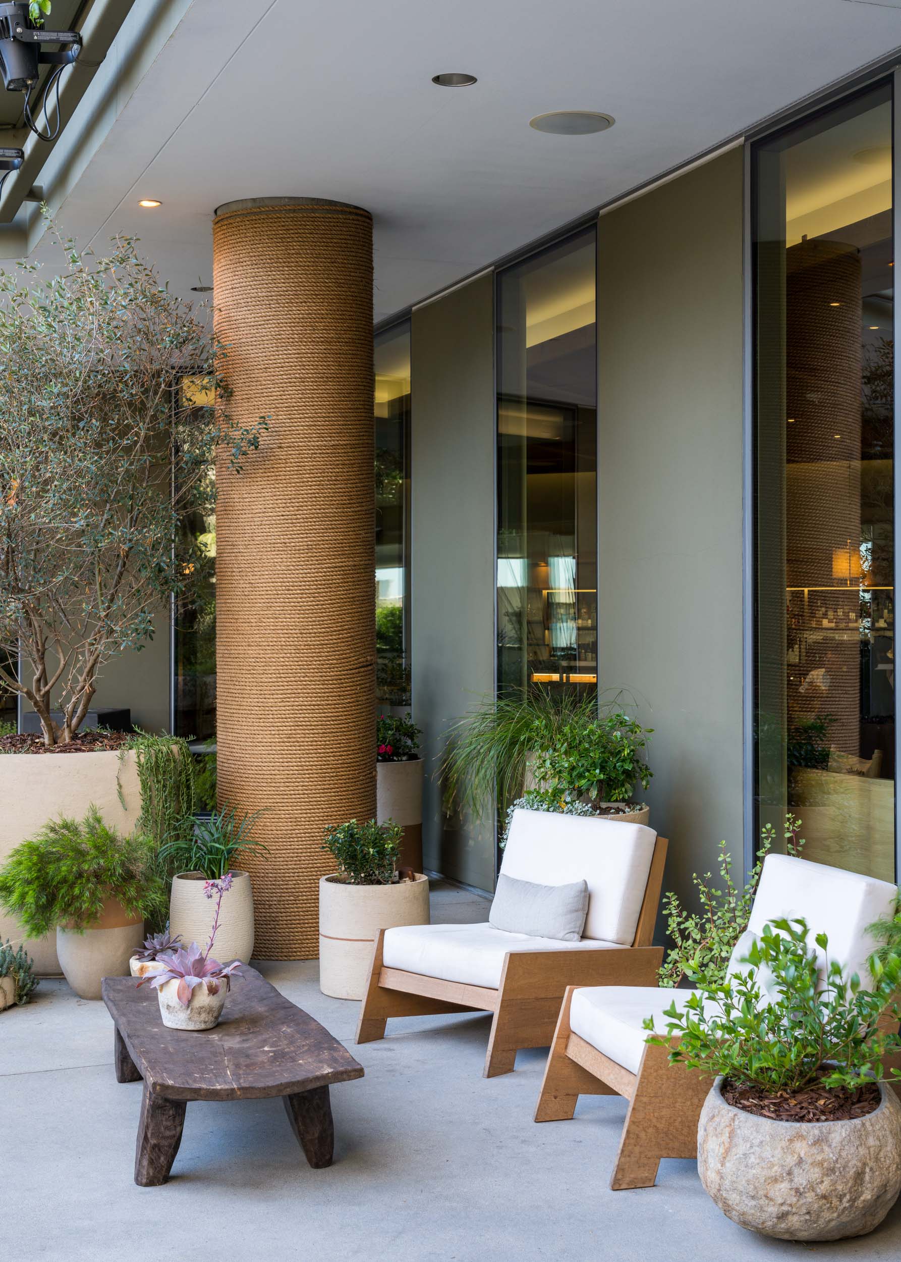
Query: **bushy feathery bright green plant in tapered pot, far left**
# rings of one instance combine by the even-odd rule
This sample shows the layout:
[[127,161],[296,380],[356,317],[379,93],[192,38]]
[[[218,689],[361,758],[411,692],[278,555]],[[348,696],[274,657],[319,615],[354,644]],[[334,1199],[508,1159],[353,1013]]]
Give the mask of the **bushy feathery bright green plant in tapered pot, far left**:
[[165,883],[151,843],[120,837],[92,806],[82,820],[49,820],[13,851],[0,868],[0,905],[29,938],[56,929],[66,981],[98,1000],[103,977],[129,972],[144,919],[165,907]]

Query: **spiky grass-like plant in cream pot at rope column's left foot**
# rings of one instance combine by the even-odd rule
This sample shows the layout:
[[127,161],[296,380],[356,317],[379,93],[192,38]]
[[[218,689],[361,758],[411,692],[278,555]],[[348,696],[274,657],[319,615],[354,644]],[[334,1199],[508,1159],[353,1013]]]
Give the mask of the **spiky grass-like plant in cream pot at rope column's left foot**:
[[[184,941],[206,941],[212,931],[213,910],[206,886],[209,881],[231,877],[222,924],[218,925],[218,953],[223,959],[250,963],[254,953],[254,892],[250,873],[240,863],[268,854],[254,839],[254,823],[260,811],[237,815],[223,806],[209,819],[188,820],[188,827],[160,847],[159,857],[173,872],[169,900],[169,928]],[[217,909],[218,915],[218,909]]]

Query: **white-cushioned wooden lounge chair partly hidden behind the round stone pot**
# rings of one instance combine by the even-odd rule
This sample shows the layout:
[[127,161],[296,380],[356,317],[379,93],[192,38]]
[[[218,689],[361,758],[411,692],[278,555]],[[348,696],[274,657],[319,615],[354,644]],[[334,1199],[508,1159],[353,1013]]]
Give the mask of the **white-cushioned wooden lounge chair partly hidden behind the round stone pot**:
[[[806,859],[768,854],[763,862],[747,931],[729,968],[747,955],[751,938],[767,920],[803,916],[810,938],[825,933],[829,958],[866,984],[876,943],[867,933],[891,915],[897,888],[874,877]],[[645,1017],[666,1032],[664,1010],[690,992],[664,987],[570,987],[556,1023],[536,1122],[572,1118],[579,1095],[625,1095],[628,1100],[611,1188],[651,1188],[661,1157],[698,1155],[698,1118],[710,1079],[670,1065],[668,1049],[649,1046]]]

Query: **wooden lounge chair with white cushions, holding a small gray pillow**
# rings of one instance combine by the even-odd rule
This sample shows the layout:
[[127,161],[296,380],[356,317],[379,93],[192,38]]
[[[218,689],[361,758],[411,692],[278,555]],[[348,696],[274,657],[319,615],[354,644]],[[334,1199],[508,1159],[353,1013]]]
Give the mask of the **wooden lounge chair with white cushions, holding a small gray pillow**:
[[536,885],[584,880],[578,941],[493,925],[381,930],[360,1007],[357,1042],[385,1036],[389,1017],[493,1012],[485,1076],[509,1074],[520,1047],[546,1047],[568,986],[651,986],[651,945],[666,840],[640,824],[516,810],[501,872]]

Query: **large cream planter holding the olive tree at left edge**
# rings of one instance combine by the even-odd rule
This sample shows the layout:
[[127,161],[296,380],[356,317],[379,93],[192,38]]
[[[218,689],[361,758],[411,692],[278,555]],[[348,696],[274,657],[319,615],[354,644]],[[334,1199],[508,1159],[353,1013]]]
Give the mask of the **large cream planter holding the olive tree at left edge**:
[[[120,786],[125,805],[119,796]],[[0,755],[0,864],[19,842],[34,837],[48,820],[58,815],[82,819],[92,803],[103,822],[122,835],[134,829],[141,794],[132,751],[121,761],[112,750]],[[24,933],[18,920],[0,912],[0,940],[6,938],[18,946]],[[34,957],[35,973],[59,974],[53,936],[26,940],[25,950]]]

